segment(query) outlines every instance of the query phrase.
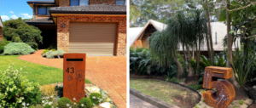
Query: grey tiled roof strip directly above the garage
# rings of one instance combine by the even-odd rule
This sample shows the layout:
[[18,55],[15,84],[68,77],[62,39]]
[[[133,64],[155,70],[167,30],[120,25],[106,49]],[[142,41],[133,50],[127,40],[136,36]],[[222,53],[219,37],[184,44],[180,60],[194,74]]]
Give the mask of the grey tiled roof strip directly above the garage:
[[96,4],[96,5],[86,5],[86,6],[69,6],[69,7],[55,7],[50,10],[59,11],[107,11],[107,12],[126,12],[126,5],[117,4]]

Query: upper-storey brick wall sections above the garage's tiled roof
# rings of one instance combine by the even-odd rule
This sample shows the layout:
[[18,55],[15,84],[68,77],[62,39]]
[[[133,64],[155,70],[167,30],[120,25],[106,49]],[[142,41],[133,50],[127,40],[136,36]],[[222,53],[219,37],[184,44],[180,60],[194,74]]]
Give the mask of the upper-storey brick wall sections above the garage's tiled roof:
[[[102,4],[102,3],[115,4],[115,0],[89,0],[90,5]],[[70,6],[70,0],[60,0],[59,5],[60,7]]]

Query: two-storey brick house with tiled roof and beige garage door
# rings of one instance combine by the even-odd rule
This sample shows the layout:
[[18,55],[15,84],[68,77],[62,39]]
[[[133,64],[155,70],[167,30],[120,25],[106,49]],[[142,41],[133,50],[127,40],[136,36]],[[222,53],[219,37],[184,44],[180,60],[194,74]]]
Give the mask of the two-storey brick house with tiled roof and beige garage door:
[[28,1],[33,19],[26,23],[42,31],[43,45],[56,43],[68,53],[124,56],[126,0]]

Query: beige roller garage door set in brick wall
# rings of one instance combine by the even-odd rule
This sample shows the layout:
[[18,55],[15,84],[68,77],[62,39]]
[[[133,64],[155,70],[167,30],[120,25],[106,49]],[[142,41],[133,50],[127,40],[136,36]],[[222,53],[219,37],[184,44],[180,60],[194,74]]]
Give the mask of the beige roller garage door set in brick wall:
[[116,36],[117,23],[71,22],[69,53],[113,55]]

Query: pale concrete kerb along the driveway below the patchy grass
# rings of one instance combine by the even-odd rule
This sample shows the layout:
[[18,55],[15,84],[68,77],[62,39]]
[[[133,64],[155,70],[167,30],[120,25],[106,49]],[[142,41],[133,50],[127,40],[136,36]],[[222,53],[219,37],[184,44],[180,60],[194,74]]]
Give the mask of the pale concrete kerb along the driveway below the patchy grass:
[[163,100],[156,99],[156,98],[154,98],[150,95],[145,95],[145,94],[137,91],[134,88],[130,88],[130,94],[133,94],[137,98],[143,99],[144,101],[147,101],[151,105],[154,105],[154,106],[157,106],[157,107],[160,107],[160,108],[179,108],[177,105],[171,105],[169,103],[166,103]]

